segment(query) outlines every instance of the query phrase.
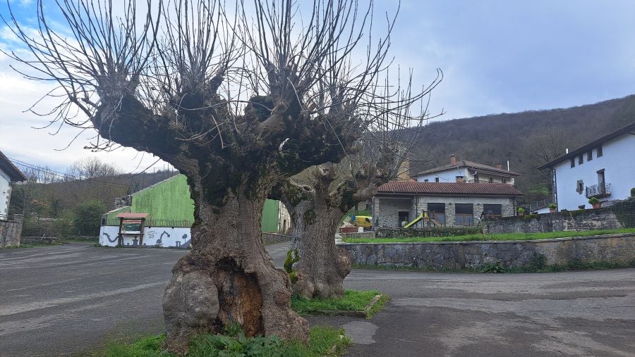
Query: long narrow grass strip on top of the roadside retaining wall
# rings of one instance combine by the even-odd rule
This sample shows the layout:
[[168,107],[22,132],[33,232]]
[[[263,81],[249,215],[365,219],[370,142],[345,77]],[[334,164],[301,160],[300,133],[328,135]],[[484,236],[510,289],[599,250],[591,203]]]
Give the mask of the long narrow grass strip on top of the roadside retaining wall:
[[635,228],[619,230],[587,230],[545,233],[501,233],[501,234],[467,234],[450,237],[396,237],[396,238],[344,238],[346,243],[418,243],[418,242],[470,242],[470,241],[514,241],[536,240],[566,237],[588,237],[600,234],[634,233]]

